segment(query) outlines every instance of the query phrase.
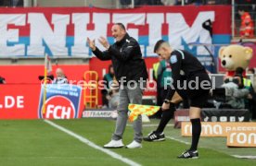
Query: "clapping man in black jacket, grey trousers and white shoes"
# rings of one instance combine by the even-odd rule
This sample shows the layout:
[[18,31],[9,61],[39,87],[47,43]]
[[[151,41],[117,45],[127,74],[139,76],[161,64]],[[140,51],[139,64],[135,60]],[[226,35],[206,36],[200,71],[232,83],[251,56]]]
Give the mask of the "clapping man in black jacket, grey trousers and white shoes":
[[[141,104],[143,87],[146,85],[147,68],[138,42],[128,35],[122,23],[114,24],[111,31],[116,40],[114,44],[110,45],[109,41],[103,37],[99,39],[106,51],[101,52],[97,49],[95,41],[87,39],[87,43],[98,59],[112,61],[115,76],[120,82],[116,129],[111,141],[104,148],[122,148],[122,134],[128,119],[128,104]],[[122,80],[125,80],[125,82],[122,83]],[[145,80],[145,82],[143,83],[140,80]],[[142,121],[139,115],[134,121],[134,141],[126,148],[141,148],[141,141]]]

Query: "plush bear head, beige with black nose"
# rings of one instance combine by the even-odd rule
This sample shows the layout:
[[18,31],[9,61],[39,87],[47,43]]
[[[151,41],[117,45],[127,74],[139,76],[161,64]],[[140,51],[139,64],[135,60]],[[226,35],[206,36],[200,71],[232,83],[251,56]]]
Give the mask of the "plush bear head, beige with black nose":
[[235,71],[237,67],[246,69],[252,58],[252,49],[236,44],[224,46],[219,51],[219,58],[227,71]]

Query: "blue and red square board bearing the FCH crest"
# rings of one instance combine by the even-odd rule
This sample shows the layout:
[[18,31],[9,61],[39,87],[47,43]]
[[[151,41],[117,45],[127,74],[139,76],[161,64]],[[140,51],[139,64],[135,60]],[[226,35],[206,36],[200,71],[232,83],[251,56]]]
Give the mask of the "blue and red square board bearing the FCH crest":
[[80,118],[82,111],[82,88],[70,84],[46,85],[45,113],[43,111],[45,86],[42,85],[38,107],[38,117],[45,119]]

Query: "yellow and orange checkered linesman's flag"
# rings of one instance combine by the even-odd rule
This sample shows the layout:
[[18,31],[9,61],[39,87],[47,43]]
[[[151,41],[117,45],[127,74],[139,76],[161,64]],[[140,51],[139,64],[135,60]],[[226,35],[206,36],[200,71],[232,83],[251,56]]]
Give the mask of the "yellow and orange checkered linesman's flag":
[[157,113],[160,110],[160,106],[129,104],[128,110],[131,111],[129,121],[134,122],[140,114],[150,116]]

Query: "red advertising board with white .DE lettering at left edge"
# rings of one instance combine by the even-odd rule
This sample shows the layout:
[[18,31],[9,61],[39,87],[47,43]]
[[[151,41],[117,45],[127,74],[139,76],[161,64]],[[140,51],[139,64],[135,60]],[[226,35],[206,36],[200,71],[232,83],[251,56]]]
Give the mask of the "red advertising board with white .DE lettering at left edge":
[[40,84],[0,85],[0,119],[37,119]]

